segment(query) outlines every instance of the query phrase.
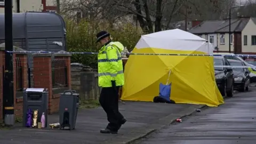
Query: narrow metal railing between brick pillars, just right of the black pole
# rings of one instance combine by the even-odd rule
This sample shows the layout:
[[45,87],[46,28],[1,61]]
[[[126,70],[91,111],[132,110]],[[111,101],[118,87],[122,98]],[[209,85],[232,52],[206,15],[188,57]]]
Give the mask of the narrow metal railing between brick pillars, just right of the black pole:
[[22,66],[20,58],[15,58],[16,67],[15,67],[15,74],[16,74],[16,90],[22,91],[23,90],[23,78],[22,78]]

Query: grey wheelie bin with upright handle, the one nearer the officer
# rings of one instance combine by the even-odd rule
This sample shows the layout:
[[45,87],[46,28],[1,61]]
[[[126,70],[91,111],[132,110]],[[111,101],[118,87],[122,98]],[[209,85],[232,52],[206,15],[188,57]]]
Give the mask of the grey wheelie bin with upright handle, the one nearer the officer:
[[60,129],[75,129],[78,107],[79,94],[75,90],[64,91],[60,94]]

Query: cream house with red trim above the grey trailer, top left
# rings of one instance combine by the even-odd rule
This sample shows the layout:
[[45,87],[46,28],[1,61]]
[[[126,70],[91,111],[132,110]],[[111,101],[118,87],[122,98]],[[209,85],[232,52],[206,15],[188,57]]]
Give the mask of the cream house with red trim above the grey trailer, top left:
[[[46,12],[56,11],[55,0],[9,0],[13,1],[13,12]],[[0,13],[4,13],[4,0],[0,0]]]

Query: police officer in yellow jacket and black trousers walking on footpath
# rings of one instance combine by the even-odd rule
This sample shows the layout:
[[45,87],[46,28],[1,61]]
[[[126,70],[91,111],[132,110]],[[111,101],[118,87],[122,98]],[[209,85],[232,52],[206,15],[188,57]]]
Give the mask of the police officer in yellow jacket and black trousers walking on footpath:
[[97,34],[97,43],[102,47],[98,54],[98,75],[100,93],[100,105],[107,113],[108,125],[100,133],[116,134],[126,122],[124,116],[118,110],[118,89],[124,85],[123,63],[121,51],[124,46],[119,42],[112,42],[107,31]]

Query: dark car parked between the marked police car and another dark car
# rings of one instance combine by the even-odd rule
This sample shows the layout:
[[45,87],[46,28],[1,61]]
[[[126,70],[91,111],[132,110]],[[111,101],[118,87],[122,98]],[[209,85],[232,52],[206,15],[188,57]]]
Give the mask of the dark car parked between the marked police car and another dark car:
[[234,89],[238,91],[248,91],[250,85],[250,71],[245,67],[245,63],[239,60],[228,60],[234,73]]

